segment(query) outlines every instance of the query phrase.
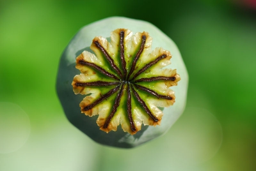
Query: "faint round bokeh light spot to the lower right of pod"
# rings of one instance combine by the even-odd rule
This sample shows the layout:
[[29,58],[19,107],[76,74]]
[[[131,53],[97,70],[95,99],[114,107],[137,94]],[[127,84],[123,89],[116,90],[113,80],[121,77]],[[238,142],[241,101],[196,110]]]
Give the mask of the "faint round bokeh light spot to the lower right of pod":
[[210,160],[220,149],[222,128],[216,117],[204,108],[187,108],[170,130],[173,161],[197,165]]

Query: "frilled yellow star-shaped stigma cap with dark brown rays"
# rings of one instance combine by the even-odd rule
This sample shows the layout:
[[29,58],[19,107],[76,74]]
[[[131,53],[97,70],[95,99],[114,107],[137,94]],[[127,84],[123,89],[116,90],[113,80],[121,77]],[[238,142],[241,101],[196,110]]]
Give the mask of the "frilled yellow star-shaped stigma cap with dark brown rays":
[[74,93],[86,94],[81,112],[99,115],[97,124],[107,133],[121,124],[134,135],[141,124],[160,124],[163,112],[175,102],[170,86],[180,80],[176,70],[163,69],[171,54],[163,48],[151,51],[152,38],[147,32],[116,29],[111,41],[95,37],[91,49],[76,58],[81,71],[72,82]]

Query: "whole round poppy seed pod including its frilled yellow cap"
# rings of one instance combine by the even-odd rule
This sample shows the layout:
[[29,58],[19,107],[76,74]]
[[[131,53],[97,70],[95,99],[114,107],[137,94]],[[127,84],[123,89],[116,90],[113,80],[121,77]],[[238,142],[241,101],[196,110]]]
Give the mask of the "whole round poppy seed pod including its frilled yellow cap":
[[60,60],[57,93],[79,130],[130,148],[163,135],[184,111],[188,73],[152,24],[111,17],[83,27]]

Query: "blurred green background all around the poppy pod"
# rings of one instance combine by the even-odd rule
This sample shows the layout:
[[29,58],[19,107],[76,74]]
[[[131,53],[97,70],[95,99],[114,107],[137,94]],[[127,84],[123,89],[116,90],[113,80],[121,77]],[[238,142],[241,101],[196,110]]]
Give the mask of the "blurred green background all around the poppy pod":
[[[256,170],[255,4],[0,1],[0,170]],[[159,27],[189,73],[184,114],[134,149],[93,142],[68,123],[56,96],[68,42],[111,16]]]

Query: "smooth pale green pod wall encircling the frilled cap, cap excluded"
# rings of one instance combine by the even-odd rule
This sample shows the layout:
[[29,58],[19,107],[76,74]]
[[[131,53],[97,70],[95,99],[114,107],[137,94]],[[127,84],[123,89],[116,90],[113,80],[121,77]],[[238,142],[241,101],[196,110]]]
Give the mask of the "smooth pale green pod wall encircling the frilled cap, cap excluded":
[[[117,28],[127,28],[133,33],[147,31],[153,38],[152,49],[162,47],[172,53],[172,65],[170,65],[170,68],[177,69],[182,78],[179,81],[179,86],[172,87],[172,90],[175,91],[176,102],[172,107],[163,109],[164,115],[161,126],[155,128],[141,126],[141,131],[138,131],[136,135],[125,133],[122,129],[118,129],[116,132],[111,131],[108,134],[99,130],[99,127],[95,124],[97,118],[84,117],[80,108],[77,108],[77,105],[83,100],[83,96],[76,96],[72,91],[72,86],[70,86],[74,75],[79,74],[79,70],[74,67],[76,65],[76,57],[84,50],[92,52],[90,45],[95,36],[109,39],[109,33]],[[166,68],[169,68],[169,66],[166,66]],[[61,56],[56,88],[61,105],[70,123],[74,124],[95,142],[113,147],[129,148],[136,147],[163,135],[177,121],[186,106],[188,72],[175,43],[157,29],[156,26],[141,20],[110,17],[84,26],[70,41]]]

